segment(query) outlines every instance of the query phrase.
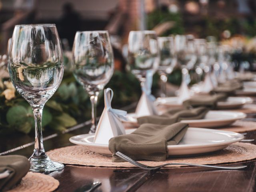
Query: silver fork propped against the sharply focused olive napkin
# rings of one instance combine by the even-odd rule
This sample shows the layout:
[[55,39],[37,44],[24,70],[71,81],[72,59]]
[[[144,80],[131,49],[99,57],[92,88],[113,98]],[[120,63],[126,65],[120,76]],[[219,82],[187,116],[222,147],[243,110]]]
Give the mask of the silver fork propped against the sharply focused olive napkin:
[[188,166],[195,166],[195,167],[211,167],[211,168],[218,168],[218,169],[242,169],[247,167],[246,165],[242,165],[242,166],[214,166],[214,165],[200,165],[200,164],[190,164],[190,163],[166,163],[163,165],[159,165],[159,166],[147,166],[144,165],[142,163],[139,163],[137,161],[132,160],[130,157],[122,154],[121,152],[116,152],[116,155],[120,158],[122,158],[123,160],[126,160],[128,162],[130,162],[131,164],[134,164],[135,166],[145,169],[145,170],[156,170],[156,169],[160,169],[164,166],[168,166],[168,165],[188,165]]

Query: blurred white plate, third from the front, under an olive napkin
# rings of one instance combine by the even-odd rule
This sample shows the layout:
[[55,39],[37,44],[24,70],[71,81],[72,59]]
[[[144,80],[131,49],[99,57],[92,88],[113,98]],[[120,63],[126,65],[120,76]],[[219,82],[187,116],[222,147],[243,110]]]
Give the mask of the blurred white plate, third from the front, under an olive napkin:
[[[219,101],[217,106],[219,109],[234,109],[252,102],[253,100],[250,97],[228,97],[226,101]],[[170,107],[182,106],[178,103],[178,97],[157,98],[155,103]]]

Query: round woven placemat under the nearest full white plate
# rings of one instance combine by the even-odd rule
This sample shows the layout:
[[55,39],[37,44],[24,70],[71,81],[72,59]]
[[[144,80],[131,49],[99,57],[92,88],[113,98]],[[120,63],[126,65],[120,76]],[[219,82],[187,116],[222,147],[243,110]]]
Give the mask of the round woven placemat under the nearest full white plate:
[[[91,152],[85,146],[68,146],[47,152],[47,155],[54,161],[64,164],[76,164],[85,166],[103,167],[135,167],[128,162],[112,162],[110,156],[100,155]],[[168,158],[164,163],[194,163],[194,164],[219,164],[229,162],[240,162],[256,158],[256,145],[248,143],[232,144],[220,151],[200,156]],[[158,166],[163,162],[141,161],[149,166]],[[175,165],[179,166],[179,165]]]

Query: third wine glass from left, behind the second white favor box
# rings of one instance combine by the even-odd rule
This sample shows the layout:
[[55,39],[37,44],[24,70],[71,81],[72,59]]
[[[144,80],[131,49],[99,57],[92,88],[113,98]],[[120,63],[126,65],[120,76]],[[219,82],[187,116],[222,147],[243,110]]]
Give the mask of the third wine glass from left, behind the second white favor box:
[[[151,93],[152,75],[159,64],[157,35],[154,31],[131,31],[128,37],[128,70],[140,81],[142,89]],[[147,91],[146,91],[147,92]],[[147,93],[146,93],[147,94]]]

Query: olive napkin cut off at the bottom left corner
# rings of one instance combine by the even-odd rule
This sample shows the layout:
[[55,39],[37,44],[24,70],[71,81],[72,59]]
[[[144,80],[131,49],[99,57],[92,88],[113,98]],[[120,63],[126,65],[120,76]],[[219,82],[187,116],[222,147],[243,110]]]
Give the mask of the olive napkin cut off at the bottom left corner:
[[0,179],[0,191],[10,190],[18,184],[30,168],[28,159],[20,155],[0,156],[0,174],[8,170],[9,176]]

